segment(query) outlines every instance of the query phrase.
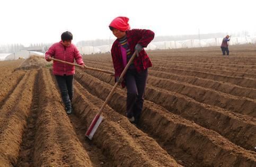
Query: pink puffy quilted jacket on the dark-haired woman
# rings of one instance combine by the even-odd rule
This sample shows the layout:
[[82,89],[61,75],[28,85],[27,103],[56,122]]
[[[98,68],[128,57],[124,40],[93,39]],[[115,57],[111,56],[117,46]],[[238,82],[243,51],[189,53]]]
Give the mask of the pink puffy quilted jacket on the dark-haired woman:
[[[61,41],[51,45],[49,50],[45,53],[45,59],[48,59],[49,56],[71,63],[74,63],[75,59],[77,64],[82,66],[84,65],[82,55],[72,43],[69,47],[66,47],[66,50],[64,49],[64,45],[61,43]],[[58,76],[64,76],[64,74],[70,76],[75,74],[75,67],[69,64],[54,61],[52,72],[54,75]]]

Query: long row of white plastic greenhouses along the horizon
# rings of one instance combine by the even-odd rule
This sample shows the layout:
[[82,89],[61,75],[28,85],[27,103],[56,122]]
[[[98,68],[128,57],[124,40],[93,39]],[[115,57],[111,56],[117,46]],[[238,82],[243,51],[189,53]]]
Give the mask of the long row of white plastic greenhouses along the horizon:
[[[164,50],[164,49],[179,49],[179,48],[198,48],[198,47],[216,47],[222,44],[223,38],[211,38],[202,40],[183,40],[183,41],[162,41],[151,42],[145,50]],[[256,43],[256,36],[237,37],[232,36],[229,45],[237,44],[254,44]],[[96,53],[110,53],[111,45],[101,45],[98,47],[86,46],[77,47],[81,54],[96,54]],[[17,60],[19,58],[28,59],[31,55],[44,55],[41,52],[34,51],[19,51],[16,53],[0,53],[1,60]]]

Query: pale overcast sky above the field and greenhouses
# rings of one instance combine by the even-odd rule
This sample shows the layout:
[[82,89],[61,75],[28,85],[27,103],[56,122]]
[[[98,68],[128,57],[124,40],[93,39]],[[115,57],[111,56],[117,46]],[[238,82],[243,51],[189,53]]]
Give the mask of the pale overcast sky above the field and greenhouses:
[[[131,28],[159,35],[256,32],[254,1],[83,1],[1,0],[0,44],[57,42],[70,31],[73,42],[114,38],[114,17],[127,16]],[[255,34],[256,35],[256,34]]]

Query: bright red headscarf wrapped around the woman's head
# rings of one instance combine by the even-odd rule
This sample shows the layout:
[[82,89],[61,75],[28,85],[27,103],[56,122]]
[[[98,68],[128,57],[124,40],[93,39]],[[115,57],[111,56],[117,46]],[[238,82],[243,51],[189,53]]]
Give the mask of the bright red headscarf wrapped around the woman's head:
[[129,21],[128,17],[116,17],[109,24],[109,26],[120,31],[128,31],[130,30],[130,25],[128,24],[128,21]]

